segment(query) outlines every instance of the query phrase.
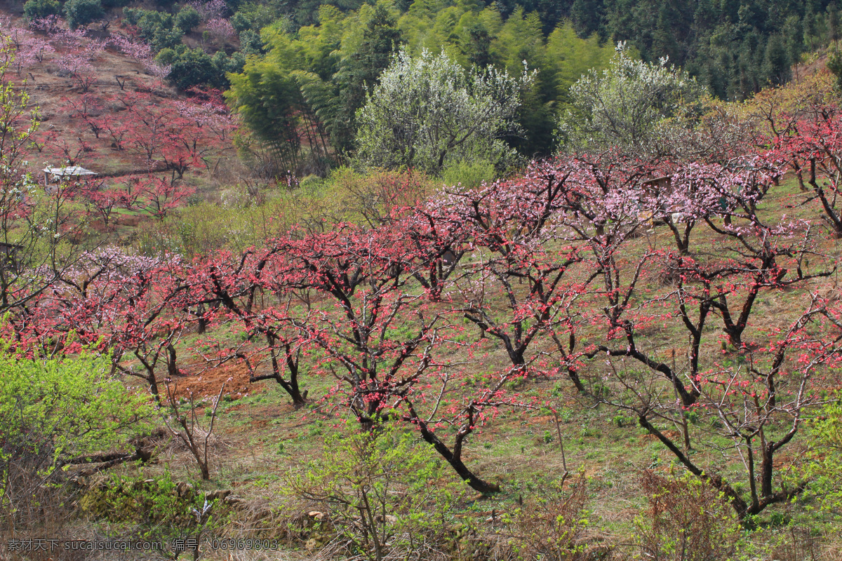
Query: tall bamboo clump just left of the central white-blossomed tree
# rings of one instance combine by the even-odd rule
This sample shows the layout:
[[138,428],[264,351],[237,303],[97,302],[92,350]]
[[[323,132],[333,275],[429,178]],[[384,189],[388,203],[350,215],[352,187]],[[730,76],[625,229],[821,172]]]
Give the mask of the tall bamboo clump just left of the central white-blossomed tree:
[[353,149],[356,111],[401,44],[400,32],[384,2],[349,15],[322,5],[319,24],[297,34],[282,24],[264,29],[266,55],[231,77],[227,95],[285,169],[321,174]]

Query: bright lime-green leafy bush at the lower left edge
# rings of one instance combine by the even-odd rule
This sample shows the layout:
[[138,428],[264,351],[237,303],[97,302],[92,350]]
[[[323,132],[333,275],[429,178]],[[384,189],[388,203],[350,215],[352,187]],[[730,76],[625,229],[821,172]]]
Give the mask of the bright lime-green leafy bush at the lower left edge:
[[43,508],[61,467],[109,451],[128,427],[152,415],[146,399],[109,372],[105,357],[0,357],[0,518],[21,521]]

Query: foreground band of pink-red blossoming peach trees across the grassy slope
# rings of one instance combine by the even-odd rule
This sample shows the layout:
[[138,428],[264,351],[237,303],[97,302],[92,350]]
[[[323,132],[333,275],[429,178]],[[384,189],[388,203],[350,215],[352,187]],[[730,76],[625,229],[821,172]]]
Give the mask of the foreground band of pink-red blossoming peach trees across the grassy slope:
[[[769,208],[783,171],[775,151],[727,166],[544,161],[380,225],[292,230],[240,255],[88,254],[9,328],[28,352],[108,350],[156,395],[193,331],[195,357],[245,363],[295,405],[310,398],[302,379],[332,378],[324,410],[416,427],[482,492],[498,485],[466,463],[469,437],[502,408],[552,406],[521,392],[562,376],[748,516],[801,489],[781,486],[776,454],[842,339],[839,304],[820,289],[834,271],[820,225]],[[781,294],[794,304],[770,321]],[[722,439],[747,495],[688,453]]]

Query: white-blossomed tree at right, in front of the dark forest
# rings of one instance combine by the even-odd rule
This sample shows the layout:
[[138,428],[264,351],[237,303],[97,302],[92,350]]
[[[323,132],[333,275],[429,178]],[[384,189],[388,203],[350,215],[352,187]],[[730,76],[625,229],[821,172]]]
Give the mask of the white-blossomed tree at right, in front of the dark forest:
[[625,42],[604,71],[594,70],[570,88],[573,108],[559,121],[558,136],[567,150],[617,147],[638,155],[660,151],[674,118],[701,110],[706,89],[687,72],[637,61]]

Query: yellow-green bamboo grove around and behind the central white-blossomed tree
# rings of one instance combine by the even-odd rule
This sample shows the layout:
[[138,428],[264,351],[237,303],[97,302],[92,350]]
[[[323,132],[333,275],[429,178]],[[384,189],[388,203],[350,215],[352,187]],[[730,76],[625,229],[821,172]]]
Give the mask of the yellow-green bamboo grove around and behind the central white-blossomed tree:
[[[424,48],[444,50],[463,68],[493,65],[510,75],[520,74],[526,61],[538,73],[521,93],[515,118],[520,134],[509,137],[507,143],[525,155],[546,155],[552,151],[558,109],[568,103],[569,86],[590,68],[605,68],[613,53],[612,46],[600,45],[596,34],[589,39],[578,38],[572,24],[562,24],[558,28],[561,31],[547,40],[542,30],[546,22],[531,8],[507,8],[511,12],[508,19],[502,17],[498,4],[485,6],[479,0],[418,0],[405,8],[392,0],[379,0],[364,3],[355,12],[341,8],[322,3],[317,23],[296,33],[290,31],[288,21],[275,21],[264,29],[263,41],[254,31],[264,11],[244,4],[232,17],[234,28],[241,30],[243,52],[258,55],[248,62],[246,73],[283,77],[285,85],[297,84],[298,96],[285,97],[292,105],[280,102],[272,113],[280,108],[281,112],[299,115],[301,119],[290,122],[298,125],[302,141],[275,146],[285,146],[285,150],[291,146],[306,156],[312,143],[303,137],[310,136],[317,140],[317,152],[322,156],[329,154],[328,159],[344,161],[354,151],[356,111],[365,103],[366,90],[373,90],[397,50],[405,47],[413,56]],[[254,82],[254,87],[264,88],[260,94],[264,96],[269,93],[269,82],[260,82]],[[253,93],[248,92],[249,96]],[[312,123],[311,115],[315,117]],[[257,136],[274,143],[277,133],[263,125],[272,121],[259,120],[260,130],[254,130]],[[250,126],[248,123],[247,119]],[[321,150],[322,132],[329,137],[329,151]]]

